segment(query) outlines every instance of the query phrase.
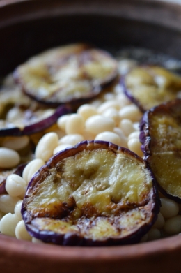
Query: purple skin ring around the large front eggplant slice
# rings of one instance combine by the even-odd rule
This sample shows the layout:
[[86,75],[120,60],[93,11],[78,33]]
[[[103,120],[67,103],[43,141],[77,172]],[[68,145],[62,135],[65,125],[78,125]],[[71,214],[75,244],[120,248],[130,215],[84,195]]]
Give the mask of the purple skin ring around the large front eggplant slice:
[[[125,237],[106,237],[104,239],[93,239],[90,237],[84,237],[79,233],[76,233],[74,231],[68,232],[68,233],[56,233],[52,230],[46,230],[42,229],[40,230],[37,228],[37,226],[33,225],[33,220],[38,219],[38,214],[32,214],[31,210],[27,209],[27,204],[29,202],[28,198],[31,196],[32,191],[36,191],[36,187],[38,184],[41,184],[45,177],[49,175],[49,170],[53,170],[55,168],[56,163],[63,160],[64,158],[68,158],[70,156],[74,156],[77,154],[77,152],[81,152],[84,150],[91,150],[91,149],[109,149],[109,151],[117,154],[117,153],[124,153],[128,155],[128,157],[136,158],[139,162],[143,163],[145,165],[145,161],[143,161],[143,158],[140,158],[134,152],[129,151],[129,149],[126,149],[124,147],[118,147],[117,145],[114,145],[111,142],[105,142],[105,141],[83,141],[79,142],[74,147],[68,147],[64,149],[61,152],[58,152],[52,158],[49,159],[49,161],[43,165],[38,172],[36,172],[35,175],[33,175],[31,181],[29,182],[29,186],[26,191],[26,195],[24,197],[24,201],[22,204],[22,218],[24,219],[26,230],[28,230],[29,234],[32,237],[36,237],[37,239],[42,240],[45,243],[53,243],[63,246],[111,246],[111,245],[124,245],[124,244],[136,244],[140,241],[141,237],[145,235],[148,230],[152,227],[153,223],[155,223],[157,219],[157,214],[159,213],[160,208],[160,200],[159,200],[159,194],[157,191],[157,186],[155,183],[155,179],[152,177],[152,174],[150,172],[150,179],[152,181],[151,189],[149,190],[149,196],[147,197],[147,205],[145,205],[145,211],[150,216],[150,221],[147,221],[143,223],[141,228],[136,228],[131,234],[125,235]],[[142,201],[143,202],[143,201]],[[135,205],[136,206],[136,205]],[[143,207],[143,204],[142,204]],[[144,212],[145,212],[144,211]],[[128,215],[127,215],[128,216]],[[130,215],[129,215],[130,216]],[[48,215],[47,215],[48,217]],[[55,217],[55,218],[54,218]],[[54,214],[54,219],[59,219]],[[52,218],[52,219],[53,219]],[[99,217],[98,217],[99,218]],[[46,218],[45,219],[49,219]],[[85,218],[86,219],[86,218]],[[61,220],[61,218],[60,218]],[[86,220],[88,221],[88,220]],[[95,222],[97,223],[97,222]]]

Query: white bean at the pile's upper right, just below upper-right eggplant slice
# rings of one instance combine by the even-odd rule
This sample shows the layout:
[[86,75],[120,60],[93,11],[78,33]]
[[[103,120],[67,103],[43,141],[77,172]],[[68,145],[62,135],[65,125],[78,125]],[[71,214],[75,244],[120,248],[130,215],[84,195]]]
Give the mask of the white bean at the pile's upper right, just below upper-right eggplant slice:
[[139,121],[142,117],[142,113],[139,108],[134,105],[126,105],[119,111],[120,119],[130,119],[131,121]]

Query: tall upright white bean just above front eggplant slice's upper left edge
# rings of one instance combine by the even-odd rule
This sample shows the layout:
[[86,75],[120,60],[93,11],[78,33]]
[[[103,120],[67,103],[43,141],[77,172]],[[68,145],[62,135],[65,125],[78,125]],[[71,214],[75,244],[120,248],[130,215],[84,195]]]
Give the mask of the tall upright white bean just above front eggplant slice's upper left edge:
[[36,158],[48,161],[49,158],[53,156],[56,146],[58,146],[58,135],[56,133],[46,133],[36,146]]

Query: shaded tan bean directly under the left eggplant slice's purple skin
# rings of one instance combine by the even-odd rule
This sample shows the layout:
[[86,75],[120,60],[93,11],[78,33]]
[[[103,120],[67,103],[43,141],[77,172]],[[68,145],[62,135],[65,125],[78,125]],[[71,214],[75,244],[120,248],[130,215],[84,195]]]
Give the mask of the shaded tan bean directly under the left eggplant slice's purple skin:
[[29,137],[27,135],[19,136],[19,137],[6,137],[3,142],[2,146],[13,149],[15,151],[19,151],[26,147],[29,144]]

